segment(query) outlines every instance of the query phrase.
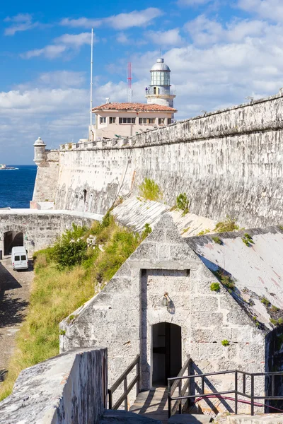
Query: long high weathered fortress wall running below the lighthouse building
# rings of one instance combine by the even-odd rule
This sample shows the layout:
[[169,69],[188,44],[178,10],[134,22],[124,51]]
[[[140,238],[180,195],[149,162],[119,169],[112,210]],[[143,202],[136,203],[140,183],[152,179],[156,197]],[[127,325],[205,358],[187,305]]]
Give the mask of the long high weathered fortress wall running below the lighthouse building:
[[[241,225],[279,223],[282,95],[129,139],[61,146],[54,207],[105,213],[117,196],[137,193],[144,177],[150,177],[168,204],[186,192],[190,210],[197,215],[219,220],[228,213]],[[48,158],[47,163],[51,165]],[[54,168],[41,163],[33,200],[47,199],[48,169],[54,182]]]

